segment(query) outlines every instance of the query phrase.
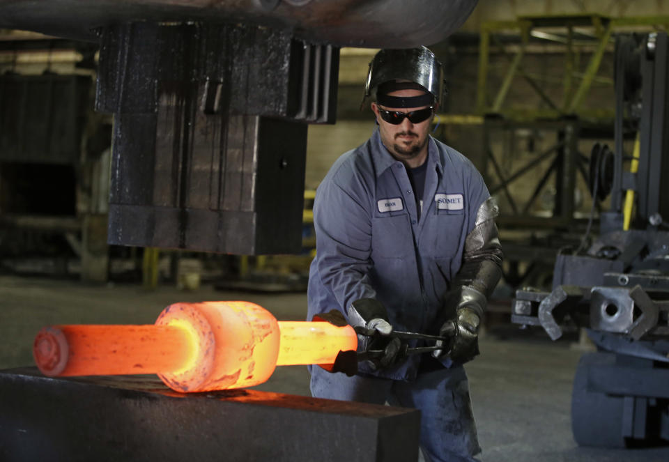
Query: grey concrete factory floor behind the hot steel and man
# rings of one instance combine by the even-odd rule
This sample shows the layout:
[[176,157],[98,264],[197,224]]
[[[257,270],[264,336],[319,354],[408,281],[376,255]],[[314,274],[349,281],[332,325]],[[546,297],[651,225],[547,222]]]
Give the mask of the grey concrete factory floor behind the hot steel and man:
[[[247,300],[272,311],[280,320],[302,320],[303,293],[266,295],[194,292],[160,287],[86,286],[53,279],[0,276],[0,369],[32,365],[36,332],[48,324],[153,323],[173,302]],[[493,325],[481,341],[482,355],[466,367],[483,447],[483,462],[666,462],[669,447],[592,449],[578,447],[571,436],[571,380],[580,351],[567,339],[556,343],[539,332]],[[309,394],[305,367],[281,367],[256,387]],[[1,411],[0,411],[1,412]]]

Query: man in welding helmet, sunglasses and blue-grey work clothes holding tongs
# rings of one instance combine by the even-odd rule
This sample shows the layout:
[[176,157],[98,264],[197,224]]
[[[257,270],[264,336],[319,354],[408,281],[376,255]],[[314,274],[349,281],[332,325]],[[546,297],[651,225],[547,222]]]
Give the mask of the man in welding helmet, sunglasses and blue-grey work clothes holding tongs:
[[[479,353],[477,330],[501,275],[498,208],[472,162],[429,135],[444,93],[434,54],[383,49],[369,66],[378,128],[316,191],[308,316],[338,309],[377,334],[361,336],[358,351],[371,339],[384,353],[354,376],[310,367],[312,394],[420,409],[426,459],[472,461],[480,448],[462,364]],[[393,330],[450,340],[406,356]]]

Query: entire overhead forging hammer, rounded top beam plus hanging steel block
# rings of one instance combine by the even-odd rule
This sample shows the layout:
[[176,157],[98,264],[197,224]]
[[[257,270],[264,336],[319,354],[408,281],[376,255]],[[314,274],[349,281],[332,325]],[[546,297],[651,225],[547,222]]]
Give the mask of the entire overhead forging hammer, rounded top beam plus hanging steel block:
[[475,0],[0,1],[0,27],[98,40],[114,114],[108,242],[298,253],[307,123],[334,123],[339,47],[443,40]]

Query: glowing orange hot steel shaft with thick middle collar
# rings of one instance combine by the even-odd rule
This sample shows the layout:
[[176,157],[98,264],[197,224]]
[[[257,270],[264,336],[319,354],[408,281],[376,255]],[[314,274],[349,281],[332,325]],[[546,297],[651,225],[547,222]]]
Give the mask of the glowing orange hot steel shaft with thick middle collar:
[[46,376],[158,374],[172,390],[205,392],[265,382],[276,366],[332,364],[355,350],[351,326],[277,321],[249,302],[176,303],[155,325],[56,325],[33,356]]

